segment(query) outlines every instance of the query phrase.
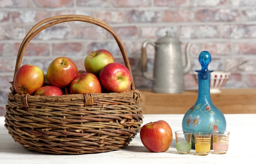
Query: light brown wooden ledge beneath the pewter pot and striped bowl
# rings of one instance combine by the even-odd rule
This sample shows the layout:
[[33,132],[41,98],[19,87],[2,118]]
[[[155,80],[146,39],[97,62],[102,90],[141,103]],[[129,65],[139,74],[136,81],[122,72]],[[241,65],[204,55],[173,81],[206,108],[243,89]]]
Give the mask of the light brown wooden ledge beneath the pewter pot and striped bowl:
[[[222,89],[211,94],[211,100],[222,113],[256,113],[256,89]],[[185,114],[195,104],[198,90],[184,93],[153,93],[139,90],[143,114]]]

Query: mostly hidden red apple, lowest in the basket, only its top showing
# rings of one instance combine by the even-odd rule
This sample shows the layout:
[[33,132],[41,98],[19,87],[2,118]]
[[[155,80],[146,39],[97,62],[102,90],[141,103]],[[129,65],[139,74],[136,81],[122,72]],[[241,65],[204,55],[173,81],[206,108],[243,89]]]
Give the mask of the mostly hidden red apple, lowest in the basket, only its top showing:
[[42,86],[36,90],[34,95],[63,95],[63,91],[56,86]]

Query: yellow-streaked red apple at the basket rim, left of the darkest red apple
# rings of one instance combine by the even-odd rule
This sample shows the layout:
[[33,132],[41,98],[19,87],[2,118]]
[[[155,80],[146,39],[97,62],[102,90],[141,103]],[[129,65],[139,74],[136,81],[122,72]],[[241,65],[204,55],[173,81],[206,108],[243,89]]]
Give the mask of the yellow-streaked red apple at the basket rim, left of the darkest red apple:
[[101,84],[96,75],[82,73],[70,83],[70,94],[101,93]]

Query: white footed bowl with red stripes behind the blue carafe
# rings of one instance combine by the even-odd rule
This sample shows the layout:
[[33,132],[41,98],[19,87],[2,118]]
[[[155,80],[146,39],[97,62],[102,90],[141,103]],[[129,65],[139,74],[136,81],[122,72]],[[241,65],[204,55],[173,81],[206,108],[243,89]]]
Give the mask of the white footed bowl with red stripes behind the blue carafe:
[[[195,81],[198,83],[198,73],[191,73]],[[221,93],[220,89],[227,83],[231,73],[224,71],[213,71],[211,73],[210,93]]]

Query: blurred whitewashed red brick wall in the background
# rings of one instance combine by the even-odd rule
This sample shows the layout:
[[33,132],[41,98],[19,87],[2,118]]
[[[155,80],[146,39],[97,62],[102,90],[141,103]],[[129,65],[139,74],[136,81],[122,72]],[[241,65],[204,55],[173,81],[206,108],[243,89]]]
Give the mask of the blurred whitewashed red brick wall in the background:
[[[4,115],[9,82],[22,39],[38,21],[63,14],[81,14],[110,24],[124,42],[136,88],[150,88],[141,76],[140,53],[144,40],[156,41],[171,31],[182,42],[182,56],[191,42],[191,71],[199,69],[198,54],[212,55],[211,69],[232,71],[225,88],[256,87],[256,1],[254,0],[0,0],[0,115]],[[85,55],[108,49],[122,62],[112,36],[101,27],[68,22],[41,31],[29,43],[22,64],[46,72],[58,56],[72,58],[83,69]],[[153,71],[154,49],[148,46],[148,71]],[[196,88],[191,74],[184,76],[187,89]]]

